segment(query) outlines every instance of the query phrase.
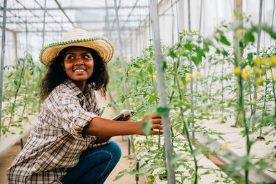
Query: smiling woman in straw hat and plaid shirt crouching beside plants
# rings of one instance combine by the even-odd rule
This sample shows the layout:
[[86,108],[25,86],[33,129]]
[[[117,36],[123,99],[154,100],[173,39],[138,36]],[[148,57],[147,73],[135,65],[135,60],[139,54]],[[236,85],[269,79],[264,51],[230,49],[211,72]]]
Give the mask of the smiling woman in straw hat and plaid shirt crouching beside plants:
[[113,52],[108,39],[90,38],[79,28],[41,50],[40,61],[49,66],[41,83],[45,101],[26,145],[7,170],[10,183],[103,183],[121,156],[110,137],[143,135],[142,124],[149,120],[151,134],[162,134],[154,131],[162,129],[157,114],[130,122],[99,117],[95,90],[106,94],[106,63]]

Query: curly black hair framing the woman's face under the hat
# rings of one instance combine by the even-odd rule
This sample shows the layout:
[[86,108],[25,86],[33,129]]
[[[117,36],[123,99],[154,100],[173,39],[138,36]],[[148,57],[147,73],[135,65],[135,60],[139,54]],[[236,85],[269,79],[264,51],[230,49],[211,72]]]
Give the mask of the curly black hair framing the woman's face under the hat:
[[[68,47],[71,48],[71,47]],[[59,52],[59,55],[50,61],[50,66],[47,69],[45,76],[41,81],[40,98],[44,101],[50,92],[54,90],[59,84],[63,83],[68,78],[66,72],[63,70],[62,63],[68,48],[64,48]],[[107,85],[109,81],[108,70],[106,63],[103,63],[103,59],[99,54],[90,48],[88,48],[92,54],[94,60],[94,70],[92,76],[88,79],[87,84],[92,83],[94,90],[99,90],[102,96],[106,96]]]

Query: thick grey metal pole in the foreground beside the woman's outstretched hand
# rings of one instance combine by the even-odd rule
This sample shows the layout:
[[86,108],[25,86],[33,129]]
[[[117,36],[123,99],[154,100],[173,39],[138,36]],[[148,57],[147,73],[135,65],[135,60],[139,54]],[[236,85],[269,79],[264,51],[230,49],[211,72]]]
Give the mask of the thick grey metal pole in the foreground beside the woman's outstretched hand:
[[[156,0],[150,0],[150,12],[152,21],[152,32],[153,41],[155,44],[155,62],[157,68],[157,83],[158,91],[160,96],[161,108],[168,108],[167,94],[166,94],[166,83],[165,75],[162,70],[163,59],[161,54],[161,41],[160,41],[160,30],[159,30],[159,14],[157,10]],[[172,137],[170,132],[170,119],[168,114],[162,116],[164,125],[164,139],[165,139],[165,152],[166,152],[166,163],[168,173],[168,183],[175,184],[175,171],[172,165]]]

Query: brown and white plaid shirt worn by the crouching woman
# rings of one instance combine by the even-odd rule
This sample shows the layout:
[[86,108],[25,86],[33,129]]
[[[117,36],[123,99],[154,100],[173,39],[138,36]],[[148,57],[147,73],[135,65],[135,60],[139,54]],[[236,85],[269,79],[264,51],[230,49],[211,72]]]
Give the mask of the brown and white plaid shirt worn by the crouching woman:
[[70,79],[52,90],[43,104],[26,145],[7,170],[9,183],[61,183],[66,168],[79,162],[97,136],[82,134],[83,127],[99,115],[95,92],[82,93]]

